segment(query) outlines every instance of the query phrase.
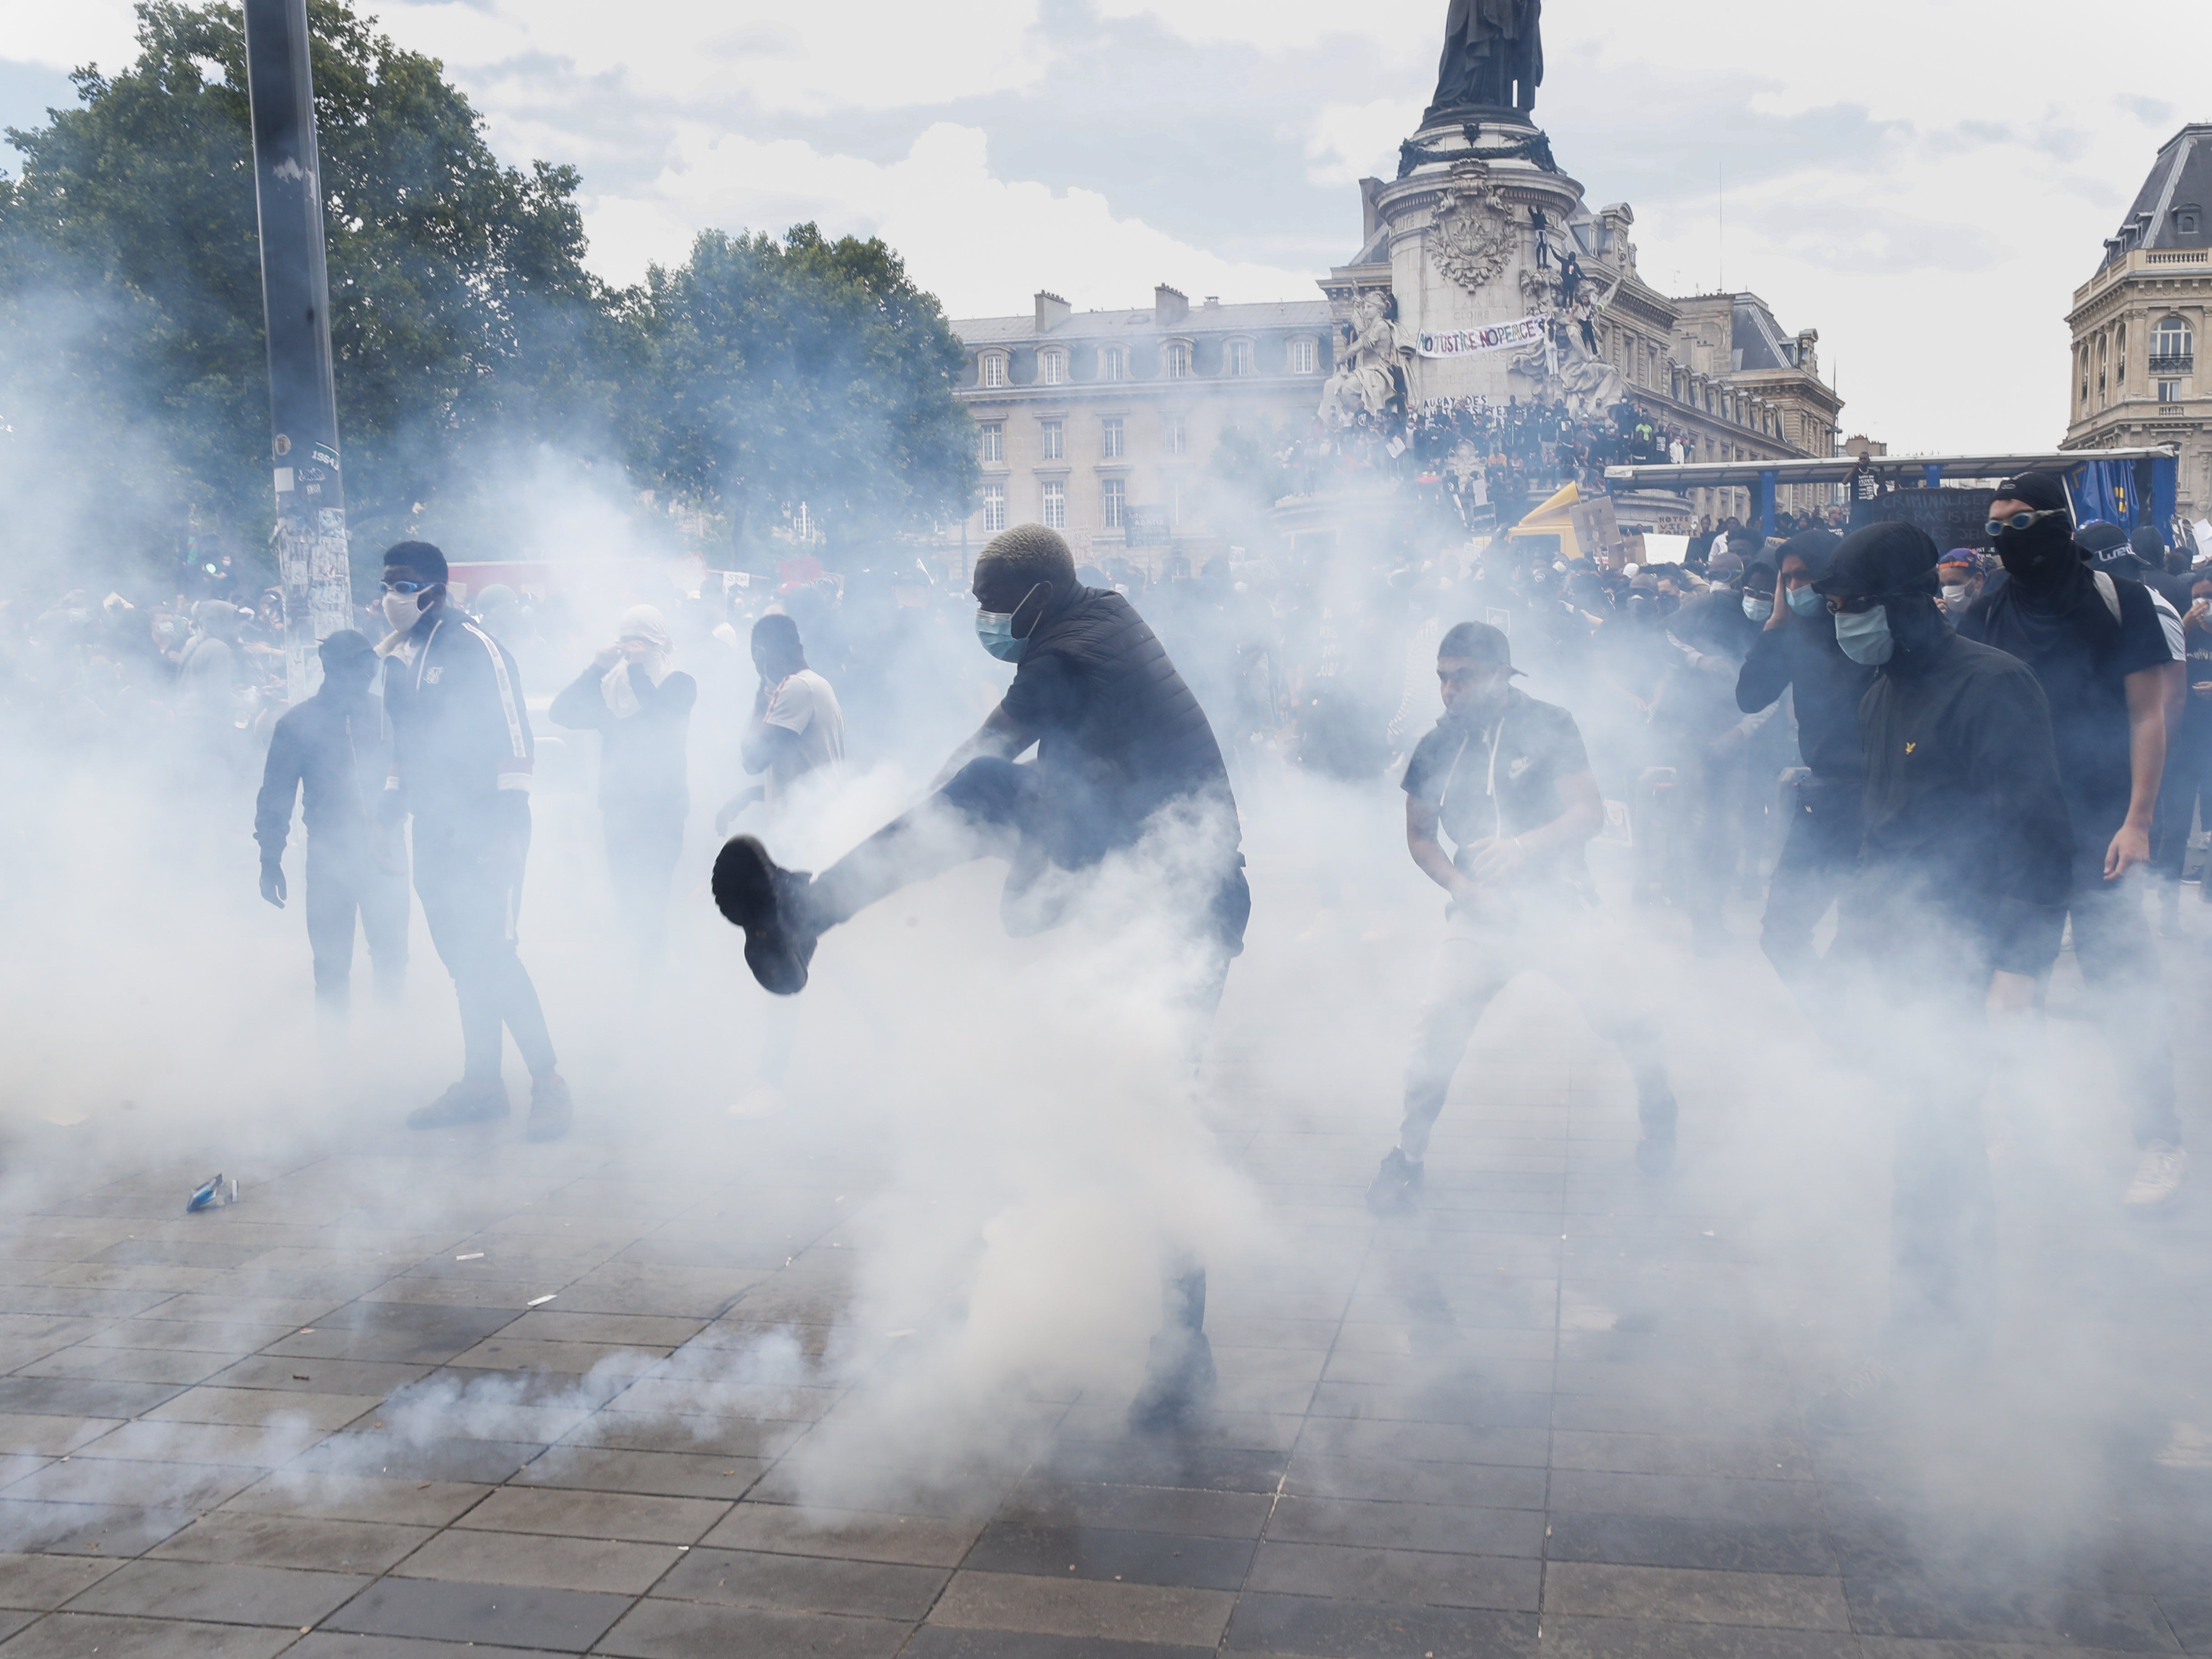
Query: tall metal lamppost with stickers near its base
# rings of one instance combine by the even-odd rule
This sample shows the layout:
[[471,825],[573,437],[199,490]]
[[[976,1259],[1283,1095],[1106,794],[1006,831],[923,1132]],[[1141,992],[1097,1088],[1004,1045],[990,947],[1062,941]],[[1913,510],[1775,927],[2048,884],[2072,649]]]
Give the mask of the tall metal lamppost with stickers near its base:
[[296,703],[323,679],[316,641],[354,624],[307,0],[246,0],[246,82],[254,122],[254,201],[261,210],[261,310],[270,345],[285,695]]

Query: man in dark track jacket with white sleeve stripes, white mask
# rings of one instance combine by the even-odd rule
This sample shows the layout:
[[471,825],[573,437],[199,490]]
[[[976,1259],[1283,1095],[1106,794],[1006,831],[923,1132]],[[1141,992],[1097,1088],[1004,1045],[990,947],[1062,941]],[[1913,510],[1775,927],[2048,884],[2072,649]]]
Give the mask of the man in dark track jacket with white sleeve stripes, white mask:
[[507,1117],[500,1029],[531,1071],[533,1141],[568,1133],[568,1084],[553,1062],[538,987],[515,956],[522,867],[531,847],[531,717],[507,646],[456,608],[445,553],[400,542],[385,553],[383,608],[392,633],[385,710],[392,776],[383,816],[414,814],[416,894],[460,1002],[462,1077],[407,1115],[409,1128]]

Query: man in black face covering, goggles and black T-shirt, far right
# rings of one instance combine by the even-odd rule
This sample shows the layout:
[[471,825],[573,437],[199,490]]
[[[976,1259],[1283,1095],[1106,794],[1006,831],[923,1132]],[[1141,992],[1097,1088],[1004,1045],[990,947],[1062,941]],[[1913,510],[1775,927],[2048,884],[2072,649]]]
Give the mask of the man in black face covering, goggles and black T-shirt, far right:
[[2126,1203],[2159,1206],[2179,1192],[2188,1155],[2163,969],[2128,872],[2150,860],[2166,706],[2185,653],[2143,584],[2084,564],[2057,476],[2000,484],[1989,524],[2008,582],[1966,611],[1958,630],[2028,664],[2051,703],[2075,832],[2075,960],[2104,1006],[2141,1148]]

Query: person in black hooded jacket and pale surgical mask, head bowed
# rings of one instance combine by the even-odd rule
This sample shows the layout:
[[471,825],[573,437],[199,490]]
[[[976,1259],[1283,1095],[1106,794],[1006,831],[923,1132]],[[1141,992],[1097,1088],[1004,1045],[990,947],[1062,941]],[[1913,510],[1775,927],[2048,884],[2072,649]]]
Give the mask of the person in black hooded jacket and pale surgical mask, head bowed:
[[[1865,836],[1836,914],[1827,1029],[1896,1104],[1889,1365],[1975,1358],[1995,1290],[1984,1009],[2031,1006],[2073,878],[2051,708],[2017,657],[1942,619],[1922,531],[1854,531],[1812,586],[1843,653],[1876,670],[1860,706]],[[1869,1380],[1818,1402],[1816,1425],[1867,1427],[1858,1418],[1889,1405],[1893,1369]]]

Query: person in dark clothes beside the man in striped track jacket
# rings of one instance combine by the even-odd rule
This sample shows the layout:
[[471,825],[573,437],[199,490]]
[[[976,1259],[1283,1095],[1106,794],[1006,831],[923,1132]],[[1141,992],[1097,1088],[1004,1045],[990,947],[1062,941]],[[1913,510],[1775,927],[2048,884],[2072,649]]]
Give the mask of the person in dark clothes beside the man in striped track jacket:
[[407,980],[407,876],[396,836],[369,812],[392,772],[392,728],[385,726],[385,706],[369,695],[376,648],[354,628],[343,628],[316,653],[323,659],[321,690],[288,710],[270,732],[254,841],[261,843],[261,896],[283,909],[292,801],[305,796],[303,909],[314,953],[314,1006],[325,1022],[341,1024],[352,993],[356,911],[369,942],[378,1002],[396,1004],[400,998]]

